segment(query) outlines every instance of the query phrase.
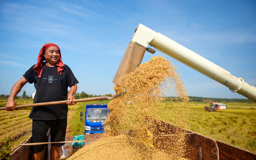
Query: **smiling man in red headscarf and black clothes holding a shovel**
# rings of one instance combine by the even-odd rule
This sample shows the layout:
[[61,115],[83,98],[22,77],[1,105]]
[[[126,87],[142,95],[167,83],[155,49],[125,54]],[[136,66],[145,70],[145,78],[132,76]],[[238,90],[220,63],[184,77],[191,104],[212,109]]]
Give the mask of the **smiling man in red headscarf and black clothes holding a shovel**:
[[[43,62],[46,60],[46,62]],[[38,55],[38,61],[23,77],[17,81],[10,93],[6,111],[18,110],[15,108],[15,96],[27,83],[34,83],[36,94],[33,103],[70,100],[61,105],[33,107],[29,118],[32,122],[32,143],[46,142],[46,133],[51,128],[51,142],[65,141],[67,127],[68,105],[74,105],[73,95],[77,91],[77,79],[71,69],[64,65],[60,48],[56,44],[45,44]],[[68,87],[70,92],[68,94]],[[60,146],[65,143],[51,144],[51,159],[58,159]],[[40,159],[45,145],[32,145],[30,159]]]

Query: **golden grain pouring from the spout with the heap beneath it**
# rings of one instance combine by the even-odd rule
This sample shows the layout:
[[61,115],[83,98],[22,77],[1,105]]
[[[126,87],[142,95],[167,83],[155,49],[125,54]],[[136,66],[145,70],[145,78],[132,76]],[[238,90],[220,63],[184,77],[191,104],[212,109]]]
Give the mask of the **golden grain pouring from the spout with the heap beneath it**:
[[161,121],[188,126],[189,98],[176,66],[154,56],[120,81],[123,86],[115,85],[115,94],[127,93],[109,102],[110,115],[103,124],[107,140],[91,143],[69,159],[182,159],[182,129],[174,128],[175,136],[164,143],[159,139],[170,132]]

